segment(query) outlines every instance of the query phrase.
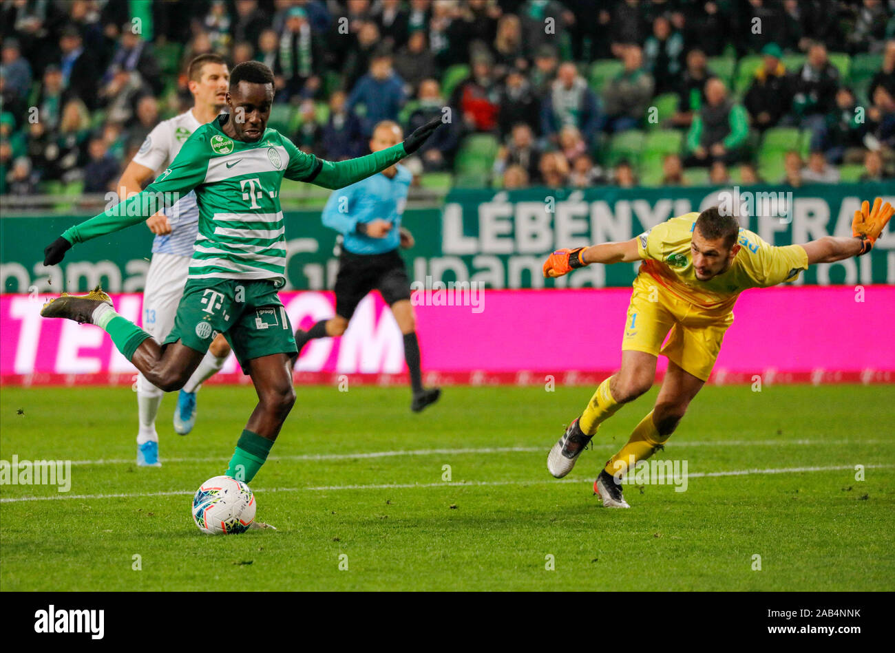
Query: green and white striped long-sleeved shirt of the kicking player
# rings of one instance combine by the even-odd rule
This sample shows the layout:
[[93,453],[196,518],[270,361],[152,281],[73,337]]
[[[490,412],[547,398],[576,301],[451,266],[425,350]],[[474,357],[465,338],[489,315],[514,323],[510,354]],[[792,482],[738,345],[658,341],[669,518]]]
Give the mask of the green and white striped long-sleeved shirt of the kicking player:
[[[145,191],[63,233],[83,242],[153,215],[196,191],[199,233],[190,261],[192,279],[286,278],[286,233],[279,191],[283,178],[344,188],[385,170],[406,156],[404,145],[332,163],[296,148],[268,129],[254,143],[234,140],[221,127],[226,115],[203,124],[165,172]],[[222,122],[223,121],[223,122]]]

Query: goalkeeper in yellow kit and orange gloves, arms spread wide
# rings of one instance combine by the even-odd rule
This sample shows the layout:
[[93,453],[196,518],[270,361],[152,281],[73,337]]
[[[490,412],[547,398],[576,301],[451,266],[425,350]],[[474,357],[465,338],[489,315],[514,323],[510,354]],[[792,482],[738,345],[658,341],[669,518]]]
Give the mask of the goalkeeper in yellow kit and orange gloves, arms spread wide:
[[661,448],[684,417],[712,372],[739,293],[791,281],[816,263],[865,254],[892,212],[877,198],[873,208],[864,202],[855,212],[851,238],[824,236],[804,245],[772,247],[741,229],[735,216],[713,207],[673,217],[630,241],[550,254],[544,263],[544,276],[550,277],[592,263],[644,261],[627,310],[621,369],[600,384],[582,415],[550,449],[550,473],[561,478],[572,471],[600,424],[650,389],[661,353],[669,367],[652,411],[593,483],[603,505],[630,507],[622,495],[622,477],[629,466]]

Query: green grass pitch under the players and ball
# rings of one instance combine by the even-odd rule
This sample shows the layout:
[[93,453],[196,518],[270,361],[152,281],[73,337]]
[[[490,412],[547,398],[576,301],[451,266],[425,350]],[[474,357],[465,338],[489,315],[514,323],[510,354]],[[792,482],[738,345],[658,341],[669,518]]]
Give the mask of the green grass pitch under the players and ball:
[[[601,428],[564,481],[547,450],[590,388],[447,387],[418,415],[403,387],[297,393],[251,483],[257,519],[278,530],[209,537],[192,493],[225,471],[251,387],[204,389],[187,437],[166,396],[164,467],[148,470],[133,462],[129,389],[4,388],[0,458],[75,464],[67,494],[0,488],[0,586],[895,589],[895,386],[707,387],[658,454],[686,460],[686,492],[626,486],[631,510],[598,507],[592,481],[655,389]],[[763,472],[706,475],[750,470]]]

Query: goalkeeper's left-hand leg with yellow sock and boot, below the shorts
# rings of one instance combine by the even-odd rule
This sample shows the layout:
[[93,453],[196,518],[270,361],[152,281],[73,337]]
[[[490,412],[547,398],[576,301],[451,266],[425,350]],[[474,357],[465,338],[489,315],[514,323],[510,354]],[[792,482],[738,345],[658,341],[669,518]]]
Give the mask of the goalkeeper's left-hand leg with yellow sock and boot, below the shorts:
[[575,467],[578,456],[591,442],[600,424],[625,403],[633,402],[652,387],[656,377],[656,357],[645,352],[621,352],[621,368],[597,387],[581,417],[568,425],[547,454],[547,469],[558,479]]

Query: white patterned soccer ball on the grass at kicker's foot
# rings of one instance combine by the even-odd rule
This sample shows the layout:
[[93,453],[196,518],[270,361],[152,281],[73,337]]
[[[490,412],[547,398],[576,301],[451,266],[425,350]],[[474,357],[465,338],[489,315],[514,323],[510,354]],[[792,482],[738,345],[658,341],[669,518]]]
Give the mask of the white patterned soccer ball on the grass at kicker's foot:
[[244,533],[255,520],[255,496],[243,481],[216,476],[202,483],[192,497],[192,521],[203,533]]

